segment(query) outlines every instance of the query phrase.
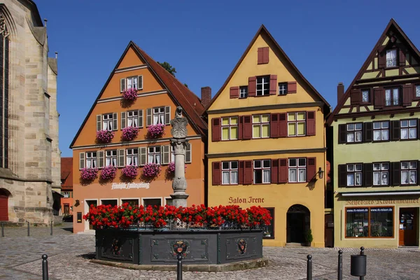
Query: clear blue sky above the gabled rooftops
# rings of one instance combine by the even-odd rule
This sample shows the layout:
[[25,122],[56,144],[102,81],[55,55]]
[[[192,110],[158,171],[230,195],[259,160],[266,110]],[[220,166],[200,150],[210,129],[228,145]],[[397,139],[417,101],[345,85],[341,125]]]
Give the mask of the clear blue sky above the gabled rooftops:
[[351,83],[391,18],[420,48],[420,1],[340,2],[36,1],[50,56],[59,52],[62,156],[130,40],[196,94],[207,85],[215,94],[264,24],[332,108],[337,83]]

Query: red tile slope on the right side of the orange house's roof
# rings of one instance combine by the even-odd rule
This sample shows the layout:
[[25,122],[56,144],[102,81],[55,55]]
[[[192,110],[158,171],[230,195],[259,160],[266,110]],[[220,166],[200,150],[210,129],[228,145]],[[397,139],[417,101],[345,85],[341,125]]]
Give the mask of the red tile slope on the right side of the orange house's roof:
[[172,92],[176,101],[179,102],[183,111],[190,117],[191,121],[197,126],[201,133],[207,132],[207,123],[202,119],[204,113],[204,106],[201,104],[200,98],[194,94],[188,87],[183,85],[177,78],[172,76],[171,73],[166,71],[165,68],[160,66],[158,62],[155,62],[144,50],[141,50],[139,46],[133,43],[134,47],[140,52],[140,55],[144,58],[147,64],[151,66],[151,69],[155,71],[156,75],[162,80],[162,83],[167,89]]

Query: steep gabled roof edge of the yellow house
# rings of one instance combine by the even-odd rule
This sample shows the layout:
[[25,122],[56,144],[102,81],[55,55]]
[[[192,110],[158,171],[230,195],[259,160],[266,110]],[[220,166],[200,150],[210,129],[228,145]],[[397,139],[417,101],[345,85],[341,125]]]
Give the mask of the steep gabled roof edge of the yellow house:
[[241,58],[239,59],[239,61],[235,65],[235,68],[232,70],[232,72],[230,72],[228,78],[225,80],[225,83],[223,83],[221,89],[218,90],[218,92],[216,93],[216,95],[214,95],[214,97],[211,99],[211,102],[207,106],[206,111],[210,108],[211,104],[213,104],[213,102],[217,99],[217,97],[221,94],[221,92],[223,92],[223,90],[225,89],[226,85],[228,85],[230,79],[232,78],[233,74],[237,71],[239,65],[241,65],[241,63],[244,60],[244,58],[246,57],[246,55],[248,55],[249,50],[251,49],[251,47],[253,46],[253,44],[257,40],[258,36],[260,36],[260,34],[262,34],[262,33],[265,33],[268,36],[268,38],[274,43],[274,45],[277,48],[277,50],[279,50],[279,52],[281,53],[281,55],[283,55],[283,57],[286,59],[286,61],[290,64],[290,66],[292,67],[292,69],[294,71],[296,71],[297,75],[300,76],[300,78],[302,78],[302,80],[304,81],[304,83],[307,83],[307,85],[314,92],[314,94],[316,94],[316,96],[318,96],[319,99],[321,99],[321,101],[325,104],[325,106],[324,106],[325,107],[324,116],[326,116],[330,112],[330,104],[328,104],[328,102],[322,97],[321,94],[319,94],[319,92],[315,89],[315,87],[313,87],[311,85],[311,83],[309,83],[309,81],[306,78],[304,78],[304,76],[302,75],[302,73],[300,73],[299,69],[297,69],[297,67],[295,66],[295,64],[293,64],[293,62],[290,60],[290,58],[286,55],[286,52],[284,52],[283,49],[281,49],[279,43],[277,43],[276,40],[274,40],[272,34],[269,33],[269,31],[267,30],[267,28],[265,28],[264,25],[261,25],[260,29],[258,29],[257,33],[255,34],[255,36],[251,40],[251,43],[249,43],[248,47],[246,48],[244,54],[241,56]]

